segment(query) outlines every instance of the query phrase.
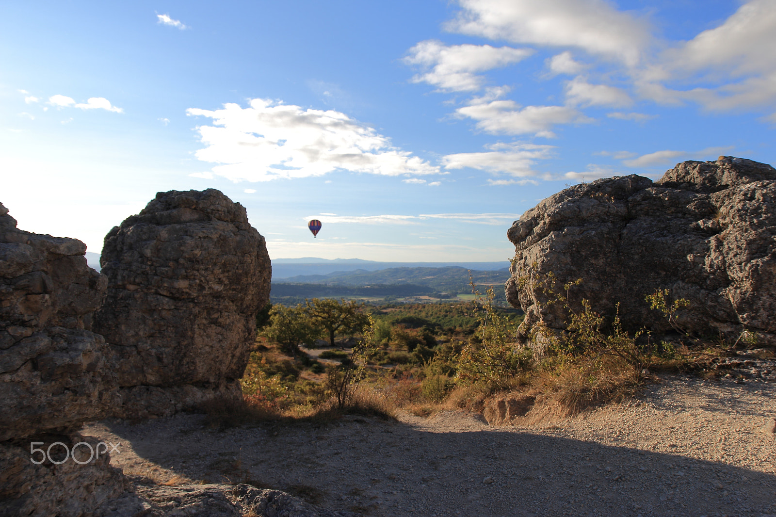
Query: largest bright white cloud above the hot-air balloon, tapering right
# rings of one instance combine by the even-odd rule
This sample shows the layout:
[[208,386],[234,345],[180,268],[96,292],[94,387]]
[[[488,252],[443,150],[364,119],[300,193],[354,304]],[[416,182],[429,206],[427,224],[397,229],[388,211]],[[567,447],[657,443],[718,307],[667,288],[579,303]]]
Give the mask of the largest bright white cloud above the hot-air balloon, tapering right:
[[196,151],[196,157],[223,164],[213,172],[232,181],[306,178],[337,169],[379,175],[440,172],[334,110],[252,99],[248,108],[229,103],[223,109],[190,108],[186,113],[213,119],[213,126],[198,128],[206,147]]

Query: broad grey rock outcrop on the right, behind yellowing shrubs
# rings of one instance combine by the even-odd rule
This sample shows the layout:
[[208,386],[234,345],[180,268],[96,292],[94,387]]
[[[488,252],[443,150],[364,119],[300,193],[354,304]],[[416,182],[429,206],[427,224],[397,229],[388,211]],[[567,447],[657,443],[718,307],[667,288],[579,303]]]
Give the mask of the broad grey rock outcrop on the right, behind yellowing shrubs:
[[[679,321],[697,335],[752,331],[776,344],[776,170],[743,158],[685,161],[657,182],[638,175],[565,189],[508,231],[515,246],[509,302],[526,314],[523,337],[543,320],[563,328],[559,304],[531,279],[553,272],[570,300],[619,314],[625,327],[670,331],[647,294],[685,298]],[[526,282],[525,280],[528,279]]]

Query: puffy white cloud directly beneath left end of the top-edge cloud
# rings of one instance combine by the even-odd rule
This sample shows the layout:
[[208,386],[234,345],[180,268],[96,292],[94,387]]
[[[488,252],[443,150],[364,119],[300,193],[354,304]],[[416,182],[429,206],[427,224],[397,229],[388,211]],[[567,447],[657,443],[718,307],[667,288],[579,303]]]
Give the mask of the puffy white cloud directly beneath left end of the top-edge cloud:
[[517,63],[531,54],[530,49],[471,44],[446,46],[440,41],[427,40],[412,47],[404,62],[423,70],[412,78],[413,82],[427,82],[453,92],[473,92],[482,88],[484,82],[476,72]]

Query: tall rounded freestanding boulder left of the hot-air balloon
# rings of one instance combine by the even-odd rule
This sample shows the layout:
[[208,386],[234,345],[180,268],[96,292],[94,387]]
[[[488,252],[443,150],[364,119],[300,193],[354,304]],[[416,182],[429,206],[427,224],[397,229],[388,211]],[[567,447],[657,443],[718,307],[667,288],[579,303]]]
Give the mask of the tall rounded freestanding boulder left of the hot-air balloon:
[[215,189],[170,191],[106,235],[95,329],[116,352],[117,416],[171,415],[237,381],[272,274],[245,209]]

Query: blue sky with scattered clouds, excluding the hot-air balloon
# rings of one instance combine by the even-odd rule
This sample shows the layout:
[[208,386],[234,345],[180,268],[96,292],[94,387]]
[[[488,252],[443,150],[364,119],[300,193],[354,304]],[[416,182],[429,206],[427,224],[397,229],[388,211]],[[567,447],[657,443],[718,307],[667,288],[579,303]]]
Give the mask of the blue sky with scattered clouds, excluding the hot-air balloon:
[[774,163],[774,48],[776,0],[0,2],[0,202],[92,252],[216,188],[273,259],[506,261],[568,184]]

